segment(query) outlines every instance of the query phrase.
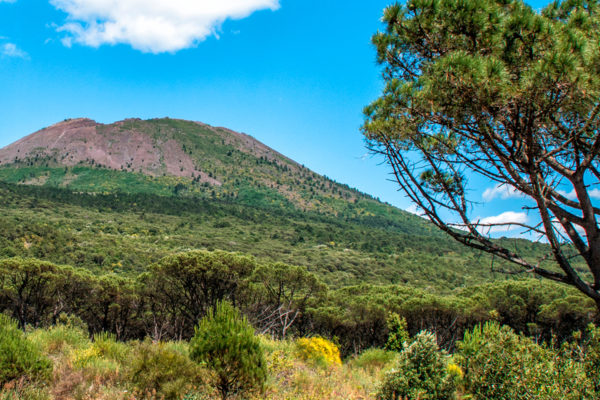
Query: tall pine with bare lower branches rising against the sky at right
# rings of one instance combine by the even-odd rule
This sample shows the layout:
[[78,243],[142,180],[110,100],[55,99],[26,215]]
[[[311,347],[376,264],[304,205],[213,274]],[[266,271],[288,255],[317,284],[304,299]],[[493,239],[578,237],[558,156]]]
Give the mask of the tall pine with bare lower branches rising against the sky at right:
[[[386,86],[365,110],[370,148],[456,240],[573,285],[600,307],[600,208],[591,192],[600,182],[599,3],[569,0],[536,13],[521,0],[410,0],[387,8],[383,21],[373,43]],[[537,221],[475,219],[474,175],[529,199]],[[548,255],[531,259],[491,240],[499,225],[539,235]]]

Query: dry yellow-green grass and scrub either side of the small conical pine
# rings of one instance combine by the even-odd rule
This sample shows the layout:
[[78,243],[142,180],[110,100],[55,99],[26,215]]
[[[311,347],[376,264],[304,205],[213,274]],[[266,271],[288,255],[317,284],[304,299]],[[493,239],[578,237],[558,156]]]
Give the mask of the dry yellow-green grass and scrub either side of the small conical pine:
[[[89,338],[81,329],[65,325],[33,330],[27,340],[52,360],[52,379],[10,382],[0,390],[0,400],[219,398],[204,383],[209,372],[190,360],[187,342],[122,343],[105,334]],[[318,363],[303,358],[294,341],[261,337],[261,344],[269,378],[255,400],[374,399],[392,361],[386,356],[378,362],[358,357],[342,364]]]

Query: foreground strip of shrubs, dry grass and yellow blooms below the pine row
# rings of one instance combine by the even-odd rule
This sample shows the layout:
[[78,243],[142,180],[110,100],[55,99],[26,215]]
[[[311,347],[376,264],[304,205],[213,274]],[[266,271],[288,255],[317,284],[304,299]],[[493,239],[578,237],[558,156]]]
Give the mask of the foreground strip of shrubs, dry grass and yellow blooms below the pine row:
[[[253,350],[244,350],[241,339],[225,338],[235,330],[223,331],[223,323],[243,321],[235,314],[231,305],[219,305],[213,317],[200,323],[200,336],[191,341],[90,336],[72,318],[48,328],[17,330],[20,346],[35,349],[35,355],[23,358],[27,367],[5,380],[0,399],[554,400],[598,396],[597,371],[590,367],[599,362],[596,339],[600,329],[593,325],[558,345],[536,343],[506,326],[486,323],[468,330],[450,353],[439,347],[434,333],[421,331],[399,351],[371,348],[341,361],[325,362],[337,346],[320,337],[279,340],[255,335],[250,328],[243,340],[253,343]],[[7,326],[16,329],[16,322],[6,317],[1,325],[3,330]],[[210,329],[222,332],[224,340],[199,346],[200,332]],[[215,351],[225,357],[201,356]],[[0,368],[2,373],[7,370],[5,363]],[[219,370],[230,372],[224,375],[229,382],[226,391]]]

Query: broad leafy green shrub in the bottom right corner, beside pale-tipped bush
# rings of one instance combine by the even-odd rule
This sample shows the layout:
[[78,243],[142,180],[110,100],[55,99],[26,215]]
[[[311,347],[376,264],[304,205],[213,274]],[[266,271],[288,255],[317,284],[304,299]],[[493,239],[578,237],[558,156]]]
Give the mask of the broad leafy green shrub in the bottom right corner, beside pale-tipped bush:
[[478,399],[594,398],[583,366],[506,326],[486,323],[466,332],[457,359],[468,393]]

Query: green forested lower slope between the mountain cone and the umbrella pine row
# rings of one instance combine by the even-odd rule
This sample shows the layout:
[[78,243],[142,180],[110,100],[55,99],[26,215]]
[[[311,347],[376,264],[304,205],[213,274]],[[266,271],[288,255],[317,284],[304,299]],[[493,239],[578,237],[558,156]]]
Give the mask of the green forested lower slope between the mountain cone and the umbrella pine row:
[[[341,218],[233,201],[6,183],[0,183],[0,199],[0,257],[36,257],[98,273],[136,274],[173,252],[222,249],[302,265],[337,287],[404,282],[447,291],[507,279],[493,272],[489,257],[429,234],[417,217],[404,223]],[[527,241],[514,245],[540,251]]]

